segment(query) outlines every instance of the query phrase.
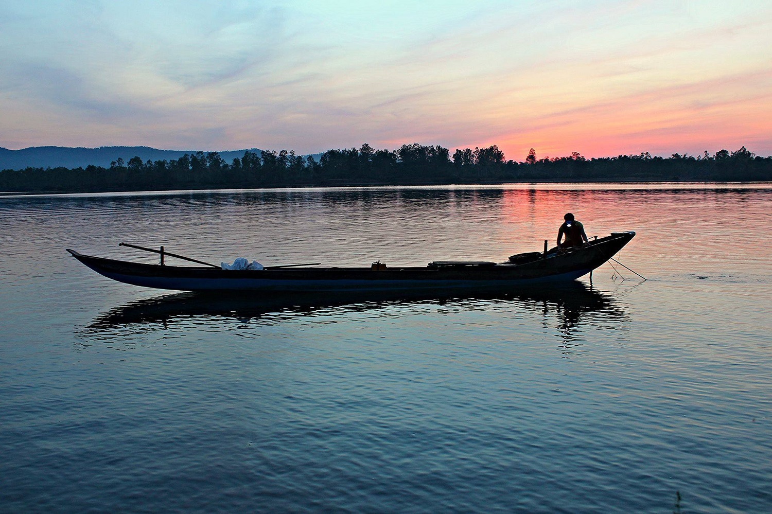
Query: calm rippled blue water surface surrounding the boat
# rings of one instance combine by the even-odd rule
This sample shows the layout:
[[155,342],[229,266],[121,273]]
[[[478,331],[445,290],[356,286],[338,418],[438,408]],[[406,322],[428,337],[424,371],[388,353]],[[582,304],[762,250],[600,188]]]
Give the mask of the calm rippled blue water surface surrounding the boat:
[[[221,298],[155,262],[505,260],[635,230],[566,288]],[[0,198],[3,512],[772,512],[772,186]]]

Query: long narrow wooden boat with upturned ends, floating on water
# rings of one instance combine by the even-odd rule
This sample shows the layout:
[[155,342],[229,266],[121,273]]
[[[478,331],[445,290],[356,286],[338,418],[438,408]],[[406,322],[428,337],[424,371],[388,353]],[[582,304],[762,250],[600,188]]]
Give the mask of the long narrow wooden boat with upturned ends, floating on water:
[[[611,259],[635,232],[613,232],[581,248],[513,255],[507,262],[438,261],[425,267],[374,264],[371,268],[274,266],[256,270],[226,270],[219,266],[153,249],[161,264],[141,264],[83,255],[67,249],[80,262],[109,279],[134,286],[180,291],[415,291],[420,289],[485,289],[566,282],[587,275]],[[121,243],[125,245],[124,243]],[[164,265],[164,255],[181,257],[206,267]]]

